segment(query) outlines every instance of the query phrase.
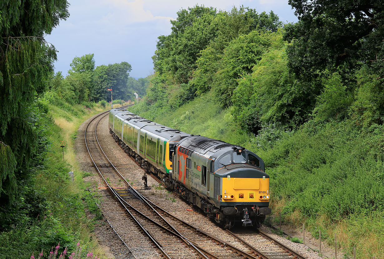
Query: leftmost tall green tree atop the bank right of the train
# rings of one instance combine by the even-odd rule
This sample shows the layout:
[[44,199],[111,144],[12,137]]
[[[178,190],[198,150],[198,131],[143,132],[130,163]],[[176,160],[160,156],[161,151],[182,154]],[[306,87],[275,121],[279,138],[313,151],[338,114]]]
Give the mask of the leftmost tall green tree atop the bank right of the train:
[[176,20],[171,21],[172,33],[159,37],[152,57],[160,76],[169,73],[176,84],[188,82],[197,55],[215,37],[217,29],[212,26],[215,15],[216,9],[204,5],[177,12]]

